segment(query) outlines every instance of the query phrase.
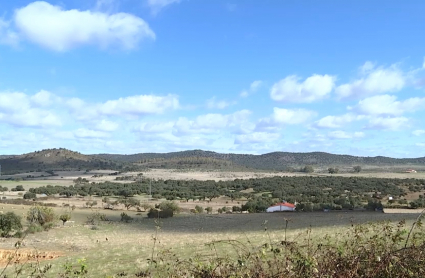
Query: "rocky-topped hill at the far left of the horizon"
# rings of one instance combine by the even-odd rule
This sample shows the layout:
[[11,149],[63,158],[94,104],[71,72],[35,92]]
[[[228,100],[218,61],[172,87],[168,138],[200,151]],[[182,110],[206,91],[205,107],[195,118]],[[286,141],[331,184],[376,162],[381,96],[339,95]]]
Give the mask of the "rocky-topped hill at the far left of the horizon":
[[3,174],[27,171],[122,169],[128,163],[83,155],[67,149],[47,149],[22,155],[0,157]]

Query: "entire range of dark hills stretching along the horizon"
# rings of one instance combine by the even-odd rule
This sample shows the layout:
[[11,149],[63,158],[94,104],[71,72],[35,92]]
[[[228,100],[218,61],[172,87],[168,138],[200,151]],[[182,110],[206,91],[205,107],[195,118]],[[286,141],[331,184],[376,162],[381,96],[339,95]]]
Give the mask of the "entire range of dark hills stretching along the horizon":
[[[84,155],[67,149],[47,149],[22,155],[0,156],[3,174],[27,171],[59,170],[138,170],[141,168],[196,169],[196,170],[277,170],[290,171],[305,165],[315,168],[352,167],[425,167],[425,157],[391,158],[384,156],[361,157],[325,152],[291,153],[272,152],[262,155],[223,154],[212,151],[189,150],[170,153],[139,153],[132,155]],[[326,170],[325,170],[326,171]]]

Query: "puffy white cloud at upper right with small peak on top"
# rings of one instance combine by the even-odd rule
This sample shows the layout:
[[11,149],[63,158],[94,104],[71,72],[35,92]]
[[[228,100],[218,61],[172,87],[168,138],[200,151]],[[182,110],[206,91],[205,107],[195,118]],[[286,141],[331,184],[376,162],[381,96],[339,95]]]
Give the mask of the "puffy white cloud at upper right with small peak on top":
[[359,98],[388,92],[397,92],[406,85],[406,76],[396,66],[375,68],[366,62],[361,68],[362,77],[335,89],[340,99]]

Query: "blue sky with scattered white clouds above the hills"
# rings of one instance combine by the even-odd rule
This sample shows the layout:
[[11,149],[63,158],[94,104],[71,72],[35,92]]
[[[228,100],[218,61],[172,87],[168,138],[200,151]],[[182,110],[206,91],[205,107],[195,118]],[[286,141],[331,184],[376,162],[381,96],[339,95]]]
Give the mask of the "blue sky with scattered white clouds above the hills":
[[0,6],[0,154],[425,155],[424,1]]

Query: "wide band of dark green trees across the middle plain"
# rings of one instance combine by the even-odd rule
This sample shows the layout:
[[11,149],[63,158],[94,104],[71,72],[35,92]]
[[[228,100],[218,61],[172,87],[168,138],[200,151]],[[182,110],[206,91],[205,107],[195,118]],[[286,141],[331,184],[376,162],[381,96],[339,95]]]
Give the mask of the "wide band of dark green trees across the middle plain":
[[[352,209],[364,206],[371,199],[392,196],[400,199],[402,188],[423,190],[425,181],[418,179],[380,179],[339,176],[271,177],[235,179],[233,181],[142,180],[133,183],[80,183],[69,187],[45,186],[31,188],[31,193],[61,196],[120,196],[123,200],[135,195],[149,194],[168,200],[213,200],[227,196],[232,201],[247,198],[244,210],[263,211],[271,203],[281,200],[297,202],[305,210]],[[246,193],[246,189],[253,193]],[[260,197],[258,197],[260,196]],[[130,201],[127,200],[130,204]]]

